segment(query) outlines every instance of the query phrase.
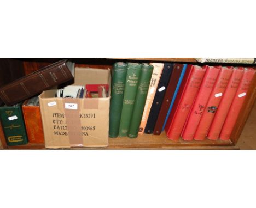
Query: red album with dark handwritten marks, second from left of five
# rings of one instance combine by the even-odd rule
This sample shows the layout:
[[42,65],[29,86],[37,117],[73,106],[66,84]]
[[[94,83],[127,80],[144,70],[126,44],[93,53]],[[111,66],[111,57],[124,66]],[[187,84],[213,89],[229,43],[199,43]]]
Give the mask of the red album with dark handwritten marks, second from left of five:
[[182,138],[192,140],[196,128],[200,122],[205,106],[216,82],[221,66],[207,66],[205,76],[203,77],[201,87],[196,96],[193,107],[183,128]]

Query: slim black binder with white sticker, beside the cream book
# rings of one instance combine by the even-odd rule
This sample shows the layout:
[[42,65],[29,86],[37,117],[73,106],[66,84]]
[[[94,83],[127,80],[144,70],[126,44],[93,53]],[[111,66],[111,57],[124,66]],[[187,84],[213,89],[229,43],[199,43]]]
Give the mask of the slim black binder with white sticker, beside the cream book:
[[165,64],[164,70],[162,71],[162,75],[158,84],[158,88],[156,88],[155,97],[148,115],[148,121],[144,133],[151,134],[154,131],[156,119],[158,118],[158,114],[166,93],[168,82],[170,81],[172,71],[173,64]]

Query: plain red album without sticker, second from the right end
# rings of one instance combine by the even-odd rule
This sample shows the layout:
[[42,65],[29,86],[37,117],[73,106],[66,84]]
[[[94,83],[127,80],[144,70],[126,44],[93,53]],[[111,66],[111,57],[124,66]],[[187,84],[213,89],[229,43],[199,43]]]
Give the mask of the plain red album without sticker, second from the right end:
[[217,140],[219,138],[219,134],[222,130],[226,115],[228,115],[232,100],[234,99],[237,87],[243,76],[243,70],[244,68],[242,67],[233,69],[233,74],[230,77],[228,86],[226,87],[225,93],[222,96],[222,100],[219,103],[218,111],[216,112],[208,132],[208,139]]

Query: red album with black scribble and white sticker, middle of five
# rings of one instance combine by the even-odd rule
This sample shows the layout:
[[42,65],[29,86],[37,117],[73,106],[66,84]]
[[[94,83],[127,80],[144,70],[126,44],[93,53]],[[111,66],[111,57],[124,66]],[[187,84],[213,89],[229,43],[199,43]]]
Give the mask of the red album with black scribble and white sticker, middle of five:
[[209,100],[206,105],[206,110],[202,114],[202,118],[199,122],[199,125],[197,126],[194,139],[195,140],[204,140],[208,130],[211,126],[212,120],[214,118],[214,115],[217,111],[217,108],[219,106],[220,100],[222,99],[222,95],[226,89],[226,86],[229,83],[229,79],[232,75],[233,68],[230,67],[222,67],[220,69],[218,78],[216,83],[214,84],[214,87],[212,89],[212,93],[209,97]]

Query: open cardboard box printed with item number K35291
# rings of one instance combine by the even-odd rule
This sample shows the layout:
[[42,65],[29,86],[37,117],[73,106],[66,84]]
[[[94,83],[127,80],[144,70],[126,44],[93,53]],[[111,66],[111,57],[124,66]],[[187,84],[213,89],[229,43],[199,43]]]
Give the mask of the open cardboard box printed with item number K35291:
[[56,90],[39,96],[46,148],[108,146],[110,70],[75,68],[74,84],[109,84],[106,98],[57,98]]

